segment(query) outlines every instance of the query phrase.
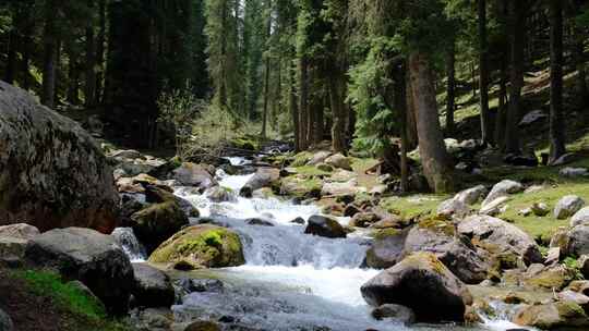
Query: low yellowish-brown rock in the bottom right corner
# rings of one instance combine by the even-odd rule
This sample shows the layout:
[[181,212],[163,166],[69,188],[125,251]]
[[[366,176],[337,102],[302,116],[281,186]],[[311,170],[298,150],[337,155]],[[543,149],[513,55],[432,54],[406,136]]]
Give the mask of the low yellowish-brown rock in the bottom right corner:
[[524,306],[516,312],[514,322],[519,326],[553,330],[588,327],[589,318],[579,305],[573,302],[557,302]]

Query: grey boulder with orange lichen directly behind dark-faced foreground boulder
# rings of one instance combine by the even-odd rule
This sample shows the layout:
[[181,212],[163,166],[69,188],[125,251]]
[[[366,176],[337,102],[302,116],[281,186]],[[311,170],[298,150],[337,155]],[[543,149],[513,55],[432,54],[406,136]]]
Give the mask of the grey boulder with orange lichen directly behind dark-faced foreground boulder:
[[478,284],[486,279],[490,265],[470,243],[465,242],[454,234],[452,224],[429,220],[409,231],[404,256],[432,253],[462,282]]

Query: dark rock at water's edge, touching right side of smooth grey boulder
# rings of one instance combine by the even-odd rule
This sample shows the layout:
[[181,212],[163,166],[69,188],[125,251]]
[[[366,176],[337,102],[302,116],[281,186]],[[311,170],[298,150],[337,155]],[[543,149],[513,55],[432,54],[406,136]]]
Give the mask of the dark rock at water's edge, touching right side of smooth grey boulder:
[[170,307],[175,292],[170,278],[163,271],[145,265],[133,263],[135,286],[133,296],[142,307]]

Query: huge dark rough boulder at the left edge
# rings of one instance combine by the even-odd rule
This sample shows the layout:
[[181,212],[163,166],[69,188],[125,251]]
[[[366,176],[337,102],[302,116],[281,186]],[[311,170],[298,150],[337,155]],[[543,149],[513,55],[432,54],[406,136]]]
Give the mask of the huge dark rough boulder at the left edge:
[[40,231],[82,226],[110,233],[119,196],[112,170],[74,121],[0,82],[0,224]]

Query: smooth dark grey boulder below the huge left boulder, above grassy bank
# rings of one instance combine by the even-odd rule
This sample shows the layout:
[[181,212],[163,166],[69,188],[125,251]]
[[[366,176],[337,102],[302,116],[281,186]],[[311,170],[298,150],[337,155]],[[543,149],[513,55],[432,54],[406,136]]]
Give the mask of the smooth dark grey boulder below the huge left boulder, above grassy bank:
[[133,268],[112,236],[91,229],[56,229],[32,238],[25,257],[37,267],[81,281],[111,314],[127,312]]

